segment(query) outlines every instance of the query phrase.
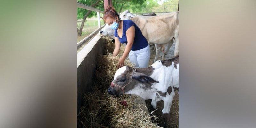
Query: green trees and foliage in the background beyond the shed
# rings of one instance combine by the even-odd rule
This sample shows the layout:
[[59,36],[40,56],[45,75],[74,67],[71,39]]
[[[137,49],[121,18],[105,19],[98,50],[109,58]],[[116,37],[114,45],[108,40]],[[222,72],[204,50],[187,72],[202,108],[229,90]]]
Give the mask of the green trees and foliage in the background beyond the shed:
[[[83,4],[92,6],[104,11],[103,0],[78,0]],[[174,12],[178,11],[179,0],[112,0],[116,11],[120,14],[125,10],[130,10],[134,14],[152,13],[152,12]],[[161,4],[160,4],[161,3]],[[80,28],[77,28],[77,34],[81,36],[86,18],[96,16],[97,12],[77,8],[77,19],[83,19]]]

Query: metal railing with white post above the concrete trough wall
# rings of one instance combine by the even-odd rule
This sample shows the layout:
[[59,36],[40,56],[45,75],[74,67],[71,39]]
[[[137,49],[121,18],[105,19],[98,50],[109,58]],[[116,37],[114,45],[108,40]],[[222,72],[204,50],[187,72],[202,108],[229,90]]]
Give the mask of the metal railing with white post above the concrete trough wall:
[[98,29],[95,30],[94,32],[92,32],[89,36],[86,36],[83,40],[79,41],[77,43],[77,50],[79,48],[81,48],[87,41],[89,41],[93,36],[95,36],[98,31],[104,27],[104,25],[101,27],[100,25],[100,13],[104,13],[103,11],[97,9],[97,8],[94,8],[94,7],[91,7],[91,6],[88,6],[86,4],[83,4],[83,3],[80,3],[80,2],[77,2],[77,7],[78,8],[83,8],[83,9],[86,9],[86,10],[91,10],[91,11],[95,11],[97,12],[97,19],[98,19]]

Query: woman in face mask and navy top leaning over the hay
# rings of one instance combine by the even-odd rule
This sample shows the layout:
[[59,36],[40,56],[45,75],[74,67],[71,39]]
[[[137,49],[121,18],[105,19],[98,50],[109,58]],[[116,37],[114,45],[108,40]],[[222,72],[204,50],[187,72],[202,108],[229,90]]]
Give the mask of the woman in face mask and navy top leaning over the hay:
[[113,56],[118,55],[121,43],[127,44],[123,56],[118,60],[117,68],[124,66],[124,60],[128,54],[130,62],[135,63],[135,67],[148,67],[150,48],[140,28],[132,20],[120,20],[118,13],[111,6],[108,6],[104,11],[103,19],[115,30],[115,49]]

